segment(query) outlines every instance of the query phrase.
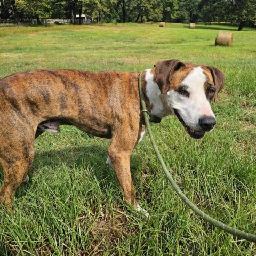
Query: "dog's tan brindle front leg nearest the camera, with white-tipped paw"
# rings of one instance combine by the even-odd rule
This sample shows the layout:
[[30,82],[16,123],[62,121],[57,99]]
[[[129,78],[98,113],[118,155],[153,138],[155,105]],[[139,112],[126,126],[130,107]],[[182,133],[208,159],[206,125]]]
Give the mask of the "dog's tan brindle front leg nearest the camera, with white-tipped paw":
[[125,201],[148,217],[148,212],[142,209],[135,199],[135,190],[130,171],[130,155],[136,141],[132,141],[131,138],[129,136],[126,136],[126,138],[114,137],[108,148],[108,156],[116,172]]

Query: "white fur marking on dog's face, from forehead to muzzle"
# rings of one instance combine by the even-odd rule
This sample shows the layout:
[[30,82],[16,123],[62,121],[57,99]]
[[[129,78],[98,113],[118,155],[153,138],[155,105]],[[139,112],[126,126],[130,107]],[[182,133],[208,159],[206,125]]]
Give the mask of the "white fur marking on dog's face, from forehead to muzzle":
[[180,95],[179,92],[169,91],[168,105],[172,109],[177,109],[185,123],[197,131],[201,131],[199,118],[202,115],[214,116],[210,102],[205,95],[204,83],[206,75],[201,67],[194,68],[181,82],[187,86],[189,97]]

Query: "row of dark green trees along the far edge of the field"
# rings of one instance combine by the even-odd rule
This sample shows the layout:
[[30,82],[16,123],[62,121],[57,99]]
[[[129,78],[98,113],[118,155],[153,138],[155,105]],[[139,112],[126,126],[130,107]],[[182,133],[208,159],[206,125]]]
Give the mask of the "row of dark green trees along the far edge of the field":
[[70,19],[90,15],[96,22],[230,22],[255,26],[255,0],[0,0],[0,19]]

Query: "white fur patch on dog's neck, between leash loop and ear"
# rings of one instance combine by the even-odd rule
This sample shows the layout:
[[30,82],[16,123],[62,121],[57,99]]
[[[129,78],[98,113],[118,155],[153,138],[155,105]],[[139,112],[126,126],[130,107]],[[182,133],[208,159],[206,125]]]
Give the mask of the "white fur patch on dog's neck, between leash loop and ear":
[[153,108],[151,113],[155,116],[159,116],[159,113],[163,112],[164,105],[161,100],[161,91],[157,85],[154,83],[153,77],[154,75],[151,73],[152,69],[146,69],[145,81],[146,81],[146,94],[150,101],[150,104],[153,104]]

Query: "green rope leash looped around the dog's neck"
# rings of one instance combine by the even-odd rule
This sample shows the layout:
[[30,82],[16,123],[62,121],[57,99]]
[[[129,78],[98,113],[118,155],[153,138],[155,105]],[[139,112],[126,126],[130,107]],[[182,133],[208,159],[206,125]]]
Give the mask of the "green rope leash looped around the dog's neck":
[[163,171],[167,177],[167,179],[171,182],[171,185],[173,187],[173,189],[178,193],[178,195],[181,197],[181,199],[195,212],[197,213],[198,215],[200,215],[204,220],[210,222],[213,226],[215,227],[218,227],[224,231],[227,231],[228,233],[232,234],[232,235],[235,235],[239,238],[242,238],[242,239],[246,239],[247,241],[251,241],[251,242],[256,242],[256,236],[255,235],[252,235],[252,234],[249,234],[249,233],[246,233],[244,231],[241,231],[241,230],[237,230],[235,228],[231,228],[223,223],[221,223],[220,221],[218,220],[215,220],[213,219],[212,217],[210,217],[209,215],[207,215],[206,213],[204,213],[203,211],[201,211],[197,206],[195,206],[186,196],[185,194],[182,193],[182,191],[180,190],[180,188],[177,186],[177,184],[175,183],[175,181],[173,180],[170,172],[167,170],[167,167],[163,161],[163,158],[161,156],[161,154],[159,153],[159,150],[156,146],[156,142],[153,138],[153,133],[151,131],[151,128],[150,128],[150,123],[149,123],[149,116],[148,116],[148,111],[146,110],[146,103],[145,103],[145,98],[144,98],[144,95],[143,95],[143,92],[142,92],[142,86],[141,86],[141,76],[142,76],[142,73],[143,71],[141,71],[140,73],[140,76],[139,76],[139,90],[140,90],[140,99],[141,99],[141,105],[142,105],[142,113],[143,113],[143,116],[145,118],[145,123],[146,123],[146,126],[147,126],[147,130],[148,130],[148,134],[149,134],[149,137],[150,137],[150,140],[151,140],[151,143],[152,143],[152,146],[155,150],[155,153],[156,153],[156,156],[160,162],[160,164],[162,165],[163,167]]

